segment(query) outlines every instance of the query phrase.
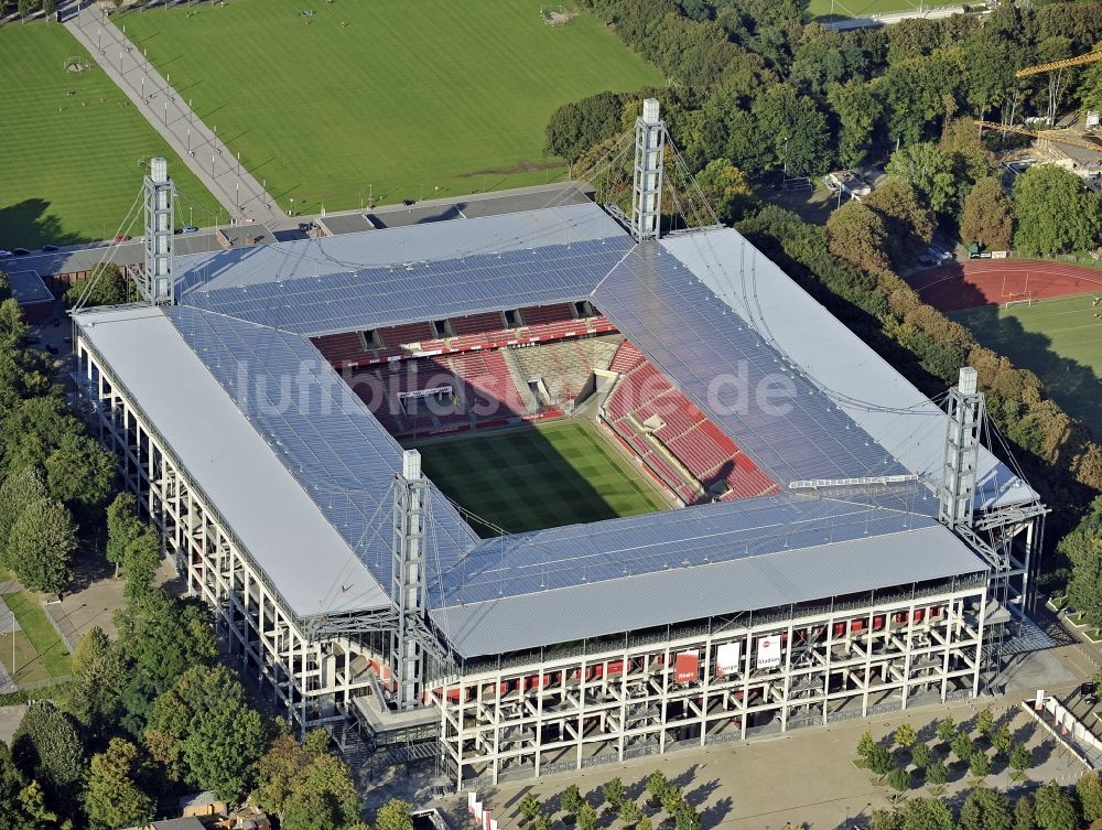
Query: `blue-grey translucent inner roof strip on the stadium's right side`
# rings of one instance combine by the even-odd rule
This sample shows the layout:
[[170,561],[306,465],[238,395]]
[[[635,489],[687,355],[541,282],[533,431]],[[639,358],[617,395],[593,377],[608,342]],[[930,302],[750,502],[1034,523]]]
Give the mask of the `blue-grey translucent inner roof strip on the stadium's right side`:
[[908,472],[659,245],[635,248],[593,299],[781,486]]

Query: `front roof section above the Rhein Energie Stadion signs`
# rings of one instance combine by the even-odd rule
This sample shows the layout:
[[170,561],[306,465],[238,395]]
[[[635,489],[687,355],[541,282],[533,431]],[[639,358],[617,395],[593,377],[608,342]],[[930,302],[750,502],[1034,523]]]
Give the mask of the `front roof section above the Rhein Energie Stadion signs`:
[[[770,502],[557,528],[538,540],[505,539],[504,550],[483,546],[461,565],[472,582],[455,593],[471,599],[453,595],[431,616],[471,658],[986,570],[928,517],[834,506],[845,515],[829,518],[829,500]],[[557,559],[563,554],[571,561]],[[557,571],[579,561],[592,578],[557,585]],[[506,590],[517,581],[526,590]]]

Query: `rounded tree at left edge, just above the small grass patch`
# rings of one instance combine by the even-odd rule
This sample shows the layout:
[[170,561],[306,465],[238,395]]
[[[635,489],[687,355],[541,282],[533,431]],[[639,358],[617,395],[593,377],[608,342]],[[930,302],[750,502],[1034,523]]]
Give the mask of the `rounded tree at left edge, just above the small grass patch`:
[[73,516],[61,502],[40,498],[15,521],[8,562],[32,591],[60,594],[73,579],[69,560],[77,549]]

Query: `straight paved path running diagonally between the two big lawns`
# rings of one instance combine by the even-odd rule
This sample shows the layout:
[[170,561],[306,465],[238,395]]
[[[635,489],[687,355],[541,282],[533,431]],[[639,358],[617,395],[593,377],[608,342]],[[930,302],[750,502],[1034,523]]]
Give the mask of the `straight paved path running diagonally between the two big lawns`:
[[[65,26],[222,203],[233,222],[274,227],[287,219],[260,182],[203,123],[187,100],[176,95],[169,77],[149,63],[98,6],[82,4]],[[169,172],[171,175],[171,169]]]

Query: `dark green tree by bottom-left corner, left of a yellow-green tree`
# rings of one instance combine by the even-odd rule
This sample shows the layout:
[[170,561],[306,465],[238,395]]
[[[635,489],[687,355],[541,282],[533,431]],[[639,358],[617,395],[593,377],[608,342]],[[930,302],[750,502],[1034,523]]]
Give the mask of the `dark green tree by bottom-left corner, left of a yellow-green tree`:
[[47,700],[31,703],[12,735],[11,755],[47,802],[72,815],[84,777],[84,746],[68,716]]

